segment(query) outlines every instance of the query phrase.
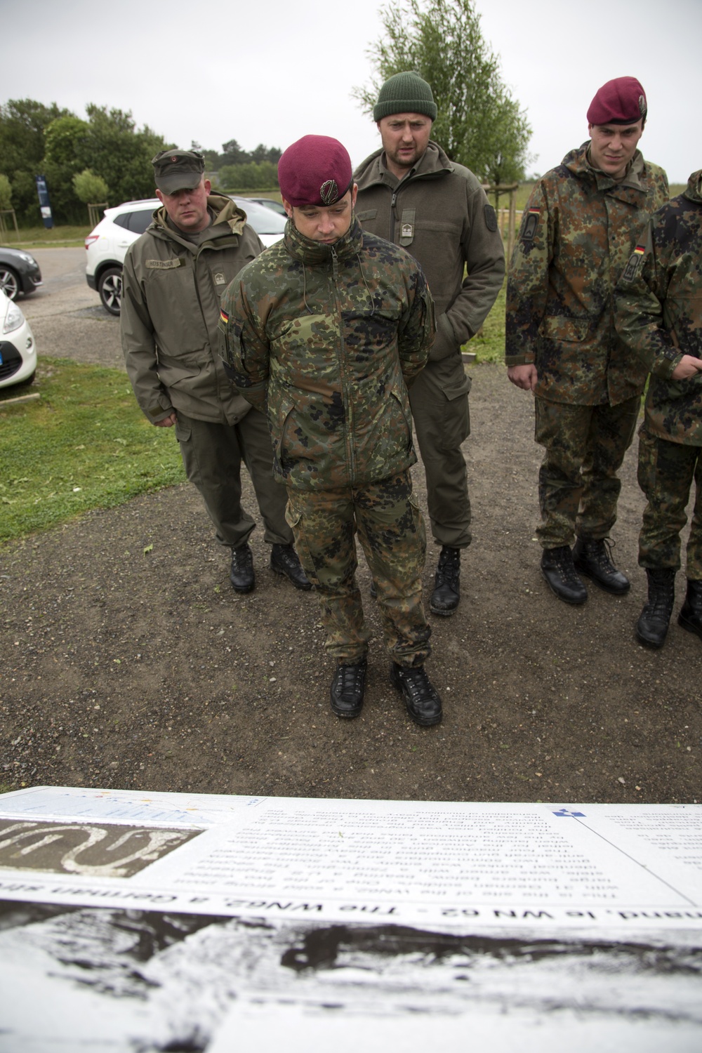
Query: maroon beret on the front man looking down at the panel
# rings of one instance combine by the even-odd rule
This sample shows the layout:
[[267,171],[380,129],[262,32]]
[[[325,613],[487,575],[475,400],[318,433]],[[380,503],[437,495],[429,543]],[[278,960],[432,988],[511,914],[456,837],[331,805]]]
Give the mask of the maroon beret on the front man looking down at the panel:
[[353,178],[345,146],[325,135],[303,136],[278,161],[280,193],[296,207],[334,204],[350,188]]

